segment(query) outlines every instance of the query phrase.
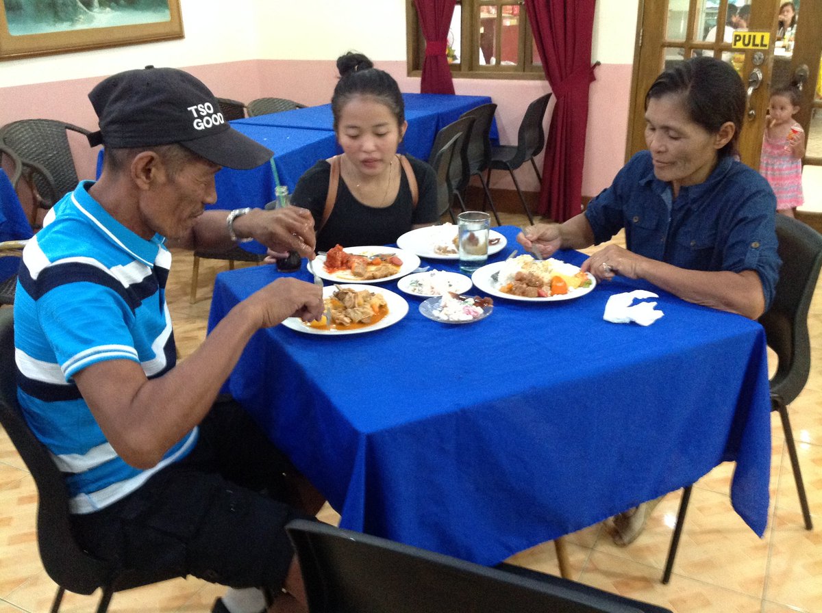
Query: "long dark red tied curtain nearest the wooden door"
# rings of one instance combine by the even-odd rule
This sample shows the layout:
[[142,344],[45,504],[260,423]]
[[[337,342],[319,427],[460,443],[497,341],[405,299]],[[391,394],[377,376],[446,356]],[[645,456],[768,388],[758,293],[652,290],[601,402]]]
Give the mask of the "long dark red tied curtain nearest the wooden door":
[[556,103],[545,146],[538,213],[564,222],[582,210],[595,0],[525,0]]

